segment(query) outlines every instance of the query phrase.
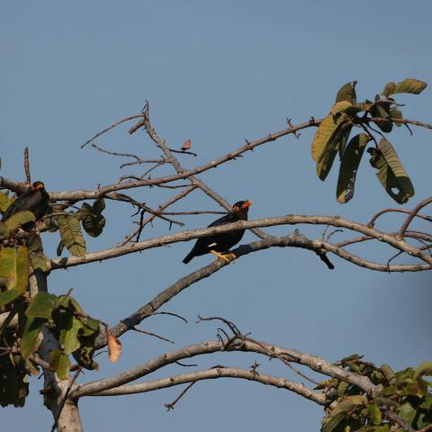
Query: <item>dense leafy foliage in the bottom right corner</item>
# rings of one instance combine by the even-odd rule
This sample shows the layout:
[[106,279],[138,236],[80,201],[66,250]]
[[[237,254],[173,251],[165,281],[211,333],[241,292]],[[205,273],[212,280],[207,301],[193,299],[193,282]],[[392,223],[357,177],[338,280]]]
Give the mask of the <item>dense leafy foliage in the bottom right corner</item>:
[[323,389],[327,396],[322,432],[402,432],[401,421],[416,430],[432,424],[432,383],[424,379],[425,375],[432,374],[431,363],[397,373],[389,365],[376,367],[358,355],[339,363],[350,372],[368,377],[382,390],[366,394],[336,378],[320,383],[317,388]]

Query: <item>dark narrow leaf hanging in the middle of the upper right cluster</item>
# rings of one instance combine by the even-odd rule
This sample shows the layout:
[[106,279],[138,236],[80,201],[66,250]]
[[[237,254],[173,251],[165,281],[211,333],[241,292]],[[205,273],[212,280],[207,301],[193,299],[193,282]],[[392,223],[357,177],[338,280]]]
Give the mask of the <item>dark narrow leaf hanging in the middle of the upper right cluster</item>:
[[348,202],[354,196],[356,175],[366,144],[371,140],[367,133],[360,133],[353,137],[340,161],[338,188],[336,196],[338,202]]

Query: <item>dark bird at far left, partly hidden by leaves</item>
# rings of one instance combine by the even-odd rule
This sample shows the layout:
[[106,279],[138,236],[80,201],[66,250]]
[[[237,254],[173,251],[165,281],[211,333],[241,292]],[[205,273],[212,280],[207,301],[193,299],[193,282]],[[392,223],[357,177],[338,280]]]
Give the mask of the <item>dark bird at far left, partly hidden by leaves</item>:
[[8,220],[18,211],[31,211],[36,220],[40,220],[45,216],[49,208],[49,193],[45,190],[42,182],[34,182],[31,188],[18,196],[16,200],[4,211],[2,222]]

